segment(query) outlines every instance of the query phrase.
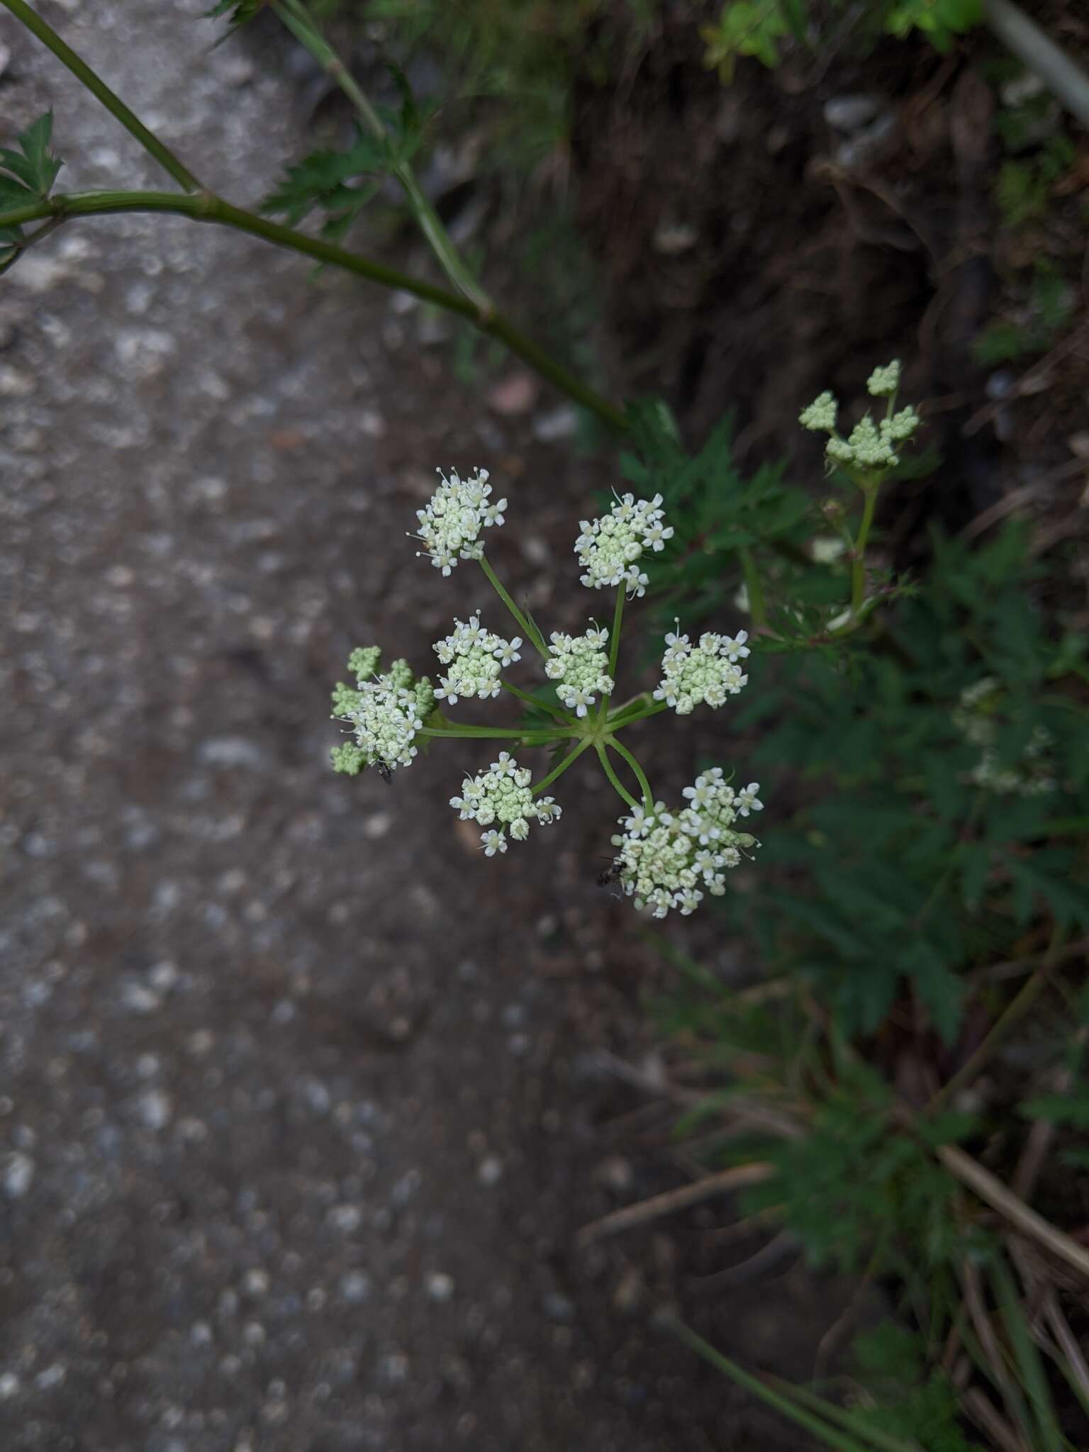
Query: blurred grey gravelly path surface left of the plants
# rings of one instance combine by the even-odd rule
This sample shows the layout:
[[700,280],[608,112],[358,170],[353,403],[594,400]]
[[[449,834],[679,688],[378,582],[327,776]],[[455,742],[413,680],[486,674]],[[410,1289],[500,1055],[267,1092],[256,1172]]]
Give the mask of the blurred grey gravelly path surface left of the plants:
[[[302,150],[292,90],[209,51],[203,9],[42,6],[253,200]],[[0,32],[4,129],[51,105],[64,187],[164,184]],[[635,1272],[572,1253],[661,1188],[598,1128],[637,944],[592,886],[611,802],[587,772],[571,825],[485,864],[446,806],[476,754],[327,770],[348,649],[420,661],[484,604],[404,537],[434,466],[502,481],[494,556],[534,608],[595,484],[418,328],[170,218],[65,229],[3,280],[6,1452],[754,1445],[646,1323],[671,1240]],[[741,1345],[788,1349],[794,1294],[723,1307]]]

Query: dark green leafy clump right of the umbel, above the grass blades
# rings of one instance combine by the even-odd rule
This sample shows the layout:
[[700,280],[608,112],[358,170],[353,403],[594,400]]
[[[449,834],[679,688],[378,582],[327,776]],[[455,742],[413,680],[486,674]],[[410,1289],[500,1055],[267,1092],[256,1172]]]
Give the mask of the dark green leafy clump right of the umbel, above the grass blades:
[[[878,581],[878,633],[839,637],[847,566],[813,562],[816,511],[781,469],[742,478],[729,423],[690,457],[661,405],[636,412],[635,437],[623,472],[665,497],[677,530],[652,574],[659,619],[733,630],[738,550],[764,576],[771,636],[748,662],[761,691],[733,725],[754,736],[765,790],[796,810],[727,912],[765,961],[820,989],[845,1032],[874,1034],[910,987],[951,1044],[968,968],[1040,915],[1089,926],[1079,849],[1051,839],[1089,810],[1088,717],[1051,687],[1080,643],[1034,604],[1024,531],[976,550],[934,534],[925,581]],[[849,539],[845,505],[836,517]],[[986,714],[963,704],[980,682]]]

